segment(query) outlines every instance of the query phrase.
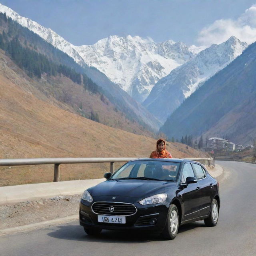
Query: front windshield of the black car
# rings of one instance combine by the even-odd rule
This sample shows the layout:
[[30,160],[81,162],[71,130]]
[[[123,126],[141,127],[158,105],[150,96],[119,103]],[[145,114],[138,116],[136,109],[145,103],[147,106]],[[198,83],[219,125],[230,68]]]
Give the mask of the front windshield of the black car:
[[180,164],[165,161],[131,161],[116,171],[111,179],[174,181]]

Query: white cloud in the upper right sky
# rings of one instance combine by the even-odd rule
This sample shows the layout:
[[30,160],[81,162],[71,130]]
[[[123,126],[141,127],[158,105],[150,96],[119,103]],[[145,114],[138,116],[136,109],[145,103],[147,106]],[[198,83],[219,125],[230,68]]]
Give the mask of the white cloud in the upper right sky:
[[216,20],[204,27],[198,34],[197,41],[205,46],[220,44],[230,36],[251,44],[256,41],[256,4],[248,8],[237,20]]

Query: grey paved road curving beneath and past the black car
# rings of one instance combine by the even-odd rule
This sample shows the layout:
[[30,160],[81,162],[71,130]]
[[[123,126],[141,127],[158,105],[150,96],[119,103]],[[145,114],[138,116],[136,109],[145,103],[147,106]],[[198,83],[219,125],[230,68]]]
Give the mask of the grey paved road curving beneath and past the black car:
[[256,164],[218,161],[229,176],[220,183],[216,227],[194,222],[180,227],[172,241],[148,234],[104,230],[84,233],[77,222],[0,237],[1,256],[250,256],[256,255]]

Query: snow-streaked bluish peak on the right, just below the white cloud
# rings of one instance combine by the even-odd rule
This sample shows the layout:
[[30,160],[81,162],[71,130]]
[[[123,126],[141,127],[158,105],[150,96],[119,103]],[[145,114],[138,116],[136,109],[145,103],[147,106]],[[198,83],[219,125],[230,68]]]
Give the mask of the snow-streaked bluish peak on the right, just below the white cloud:
[[248,44],[232,36],[222,44],[213,44],[202,50],[190,61],[159,80],[143,105],[160,121],[165,122],[184,98],[242,54],[247,46]]

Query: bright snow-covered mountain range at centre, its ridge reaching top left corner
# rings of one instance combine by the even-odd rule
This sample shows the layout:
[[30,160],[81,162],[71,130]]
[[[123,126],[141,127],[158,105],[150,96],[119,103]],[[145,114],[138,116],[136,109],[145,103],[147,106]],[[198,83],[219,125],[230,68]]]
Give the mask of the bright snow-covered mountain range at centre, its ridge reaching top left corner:
[[22,17],[2,4],[0,12],[6,12],[7,16],[68,54],[78,64],[94,66],[138,102],[145,100],[158,80],[202,50],[182,42],[155,43],[139,36],[110,36],[94,45],[74,46],[50,28]]

